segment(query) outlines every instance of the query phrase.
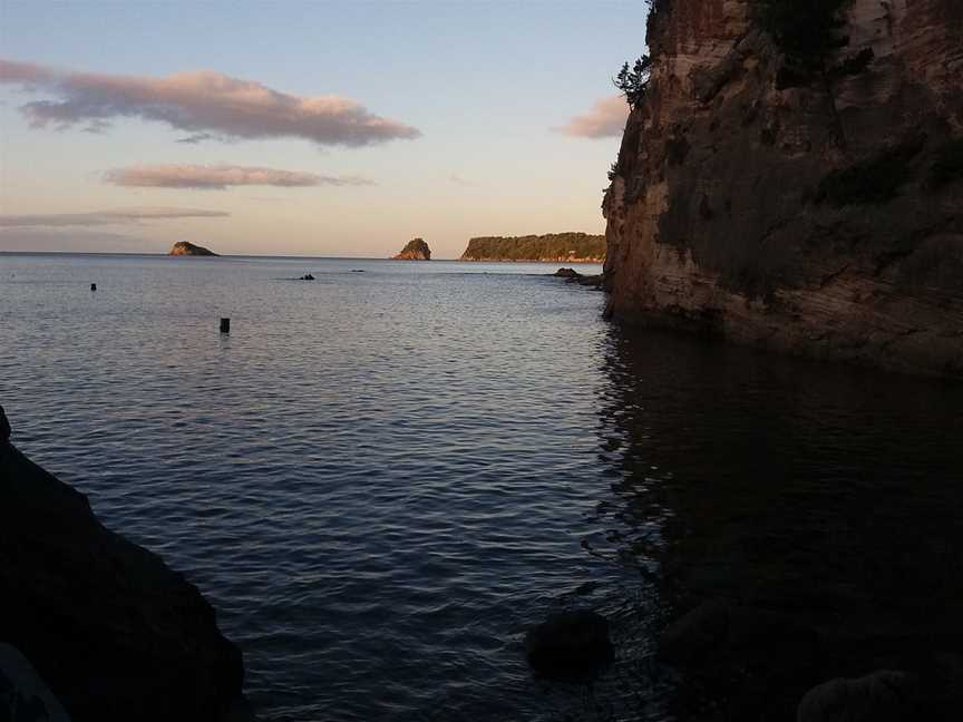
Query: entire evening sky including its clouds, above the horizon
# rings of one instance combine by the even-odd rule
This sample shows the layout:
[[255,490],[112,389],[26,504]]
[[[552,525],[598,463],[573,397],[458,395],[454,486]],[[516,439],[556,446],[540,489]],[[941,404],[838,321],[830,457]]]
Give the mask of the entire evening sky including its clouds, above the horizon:
[[643,0],[0,0],[0,251],[603,233]]

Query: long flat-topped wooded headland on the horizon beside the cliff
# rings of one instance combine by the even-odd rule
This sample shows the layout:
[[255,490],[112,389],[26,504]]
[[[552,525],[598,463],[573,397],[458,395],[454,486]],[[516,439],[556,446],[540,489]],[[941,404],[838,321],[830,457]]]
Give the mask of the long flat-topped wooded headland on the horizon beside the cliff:
[[459,260],[604,263],[605,236],[587,233],[481,236],[468,241]]

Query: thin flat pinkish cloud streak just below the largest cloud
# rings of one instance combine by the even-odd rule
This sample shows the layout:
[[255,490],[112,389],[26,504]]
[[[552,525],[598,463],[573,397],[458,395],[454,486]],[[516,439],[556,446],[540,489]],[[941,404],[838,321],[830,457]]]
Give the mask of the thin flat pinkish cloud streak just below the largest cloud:
[[139,188],[200,188],[223,191],[228,186],[269,185],[283,188],[333,185],[373,185],[357,176],[322,176],[314,173],[260,168],[256,166],[139,165],[115,168],[104,180]]

